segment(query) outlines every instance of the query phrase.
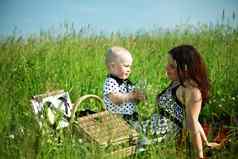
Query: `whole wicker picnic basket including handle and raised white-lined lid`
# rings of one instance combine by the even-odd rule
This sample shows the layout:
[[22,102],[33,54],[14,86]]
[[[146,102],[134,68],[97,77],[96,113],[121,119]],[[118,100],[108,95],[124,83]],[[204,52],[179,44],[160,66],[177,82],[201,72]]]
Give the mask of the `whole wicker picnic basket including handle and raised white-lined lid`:
[[[96,102],[98,112],[77,116],[83,103]],[[135,153],[139,134],[118,114],[104,110],[103,101],[96,95],[79,97],[76,103],[70,101],[69,93],[64,90],[33,96],[32,108],[40,127],[45,120],[56,129],[72,126],[86,141],[105,148],[107,155],[126,157]],[[47,110],[47,113],[44,113]],[[56,114],[61,119],[57,122]]]

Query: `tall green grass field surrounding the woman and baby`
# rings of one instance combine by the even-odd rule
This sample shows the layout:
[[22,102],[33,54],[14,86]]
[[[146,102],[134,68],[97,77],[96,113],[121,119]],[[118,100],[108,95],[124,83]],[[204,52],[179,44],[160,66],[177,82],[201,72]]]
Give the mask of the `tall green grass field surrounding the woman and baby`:
[[[141,116],[148,117],[155,109],[155,96],[169,83],[164,67],[169,49],[179,44],[192,44],[202,53],[212,82],[212,96],[202,117],[215,118],[238,114],[238,28],[201,25],[196,29],[178,28],[133,35],[83,36],[67,31],[58,36],[42,32],[39,36],[17,35],[0,41],[0,158],[104,158],[95,145],[82,143],[70,130],[57,135],[42,133],[30,106],[33,95],[64,89],[74,102],[79,96],[102,96],[107,74],[104,65],[106,50],[119,45],[128,48],[134,57],[131,80],[146,81],[148,101],[140,105]],[[194,31],[195,30],[195,31]],[[96,109],[96,108],[92,108]],[[234,138],[237,125],[230,124]],[[237,138],[235,138],[237,139]],[[235,158],[237,140],[212,158]],[[134,158],[175,158],[172,142],[150,147],[147,153]]]

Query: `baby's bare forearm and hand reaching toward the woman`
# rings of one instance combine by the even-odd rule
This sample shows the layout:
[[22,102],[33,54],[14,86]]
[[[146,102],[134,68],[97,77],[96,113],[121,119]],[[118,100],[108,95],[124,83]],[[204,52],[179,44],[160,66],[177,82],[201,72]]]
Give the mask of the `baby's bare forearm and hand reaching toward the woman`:
[[144,101],[145,96],[142,92],[138,90],[134,90],[131,93],[122,94],[120,92],[117,93],[110,93],[109,98],[112,103],[118,105],[126,102],[133,102],[133,101]]

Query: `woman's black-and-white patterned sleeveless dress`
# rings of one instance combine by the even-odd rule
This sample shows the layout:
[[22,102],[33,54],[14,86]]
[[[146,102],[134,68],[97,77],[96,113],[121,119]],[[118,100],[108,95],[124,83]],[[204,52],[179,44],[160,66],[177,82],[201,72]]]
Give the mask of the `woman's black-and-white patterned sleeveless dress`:
[[179,83],[171,83],[157,97],[158,111],[151,117],[151,134],[165,138],[169,134],[177,135],[183,128],[184,106],[176,97]]

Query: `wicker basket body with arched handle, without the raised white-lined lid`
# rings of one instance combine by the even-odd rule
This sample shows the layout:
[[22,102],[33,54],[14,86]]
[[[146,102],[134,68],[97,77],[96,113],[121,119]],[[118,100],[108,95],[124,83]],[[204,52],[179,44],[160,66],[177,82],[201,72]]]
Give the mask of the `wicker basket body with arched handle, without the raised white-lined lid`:
[[75,116],[81,103],[86,100],[97,100],[103,107],[103,101],[95,95],[85,95],[78,99],[72,111],[71,123],[88,141],[108,148],[109,155],[126,157],[135,153],[138,132],[118,114],[101,111],[77,118]]

